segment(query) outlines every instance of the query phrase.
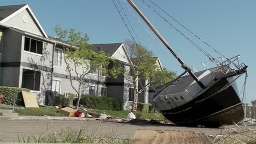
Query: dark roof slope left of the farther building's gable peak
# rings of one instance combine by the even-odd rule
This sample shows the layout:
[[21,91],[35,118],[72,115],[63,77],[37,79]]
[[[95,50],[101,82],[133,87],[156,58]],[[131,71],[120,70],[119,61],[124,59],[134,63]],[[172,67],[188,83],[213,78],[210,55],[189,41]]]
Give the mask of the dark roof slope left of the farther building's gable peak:
[[115,53],[115,51],[117,51],[122,44],[123,43],[94,44],[94,51],[97,52],[99,50],[102,50],[105,52],[105,55],[112,56]]

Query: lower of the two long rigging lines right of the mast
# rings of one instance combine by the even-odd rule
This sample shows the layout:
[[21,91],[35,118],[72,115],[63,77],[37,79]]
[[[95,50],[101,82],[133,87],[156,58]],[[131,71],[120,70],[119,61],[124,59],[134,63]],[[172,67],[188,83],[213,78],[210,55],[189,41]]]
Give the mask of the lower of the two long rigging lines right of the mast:
[[[143,3],[148,4],[147,2],[144,2],[144,0],[141,0]],[[148,7],[152,8],[149,4]],[[188,39],[190,41],[191,44],[193,44],[197,49],[199,49],[203,54],[205,54],[211,61],[214,59],[210,54],[208,54],[205,50],[203,50],[200,46],[196,45],[192,40],[190,40],[185,34],[183,34],[181,31],[179,31],[178,28],[176,28],[175,26],[172,25],[172,23],[170,23],[169,21],[167,21],[164,16],[162,16],[160,13],[158,13],[158,11],[156,11],[154,8],[152,8],[153,11],[158,14],[162,19],[165,20],[165,22],[167,22],[169,25],[171,25],[174,29],[176,29],[176,31],[180,34],[183,35],[184,38]]]

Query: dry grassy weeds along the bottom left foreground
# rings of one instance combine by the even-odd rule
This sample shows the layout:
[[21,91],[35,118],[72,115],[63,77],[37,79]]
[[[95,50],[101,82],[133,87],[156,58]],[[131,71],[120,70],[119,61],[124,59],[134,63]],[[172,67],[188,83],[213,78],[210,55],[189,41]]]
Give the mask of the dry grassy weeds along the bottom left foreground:
[[39,135],[39,136],[23,136],[22,141],[18,135],[18,142],[35,142],[35,143],[117,143],[130,144],[130,139],[119,139],[112,129],[109,134],[103,135],[99,133],[98,128],[89,129],[89,127],[82,127],[81,129],[72,129],[68,127],[61,129],[59,133],[55,131],[54,134]]

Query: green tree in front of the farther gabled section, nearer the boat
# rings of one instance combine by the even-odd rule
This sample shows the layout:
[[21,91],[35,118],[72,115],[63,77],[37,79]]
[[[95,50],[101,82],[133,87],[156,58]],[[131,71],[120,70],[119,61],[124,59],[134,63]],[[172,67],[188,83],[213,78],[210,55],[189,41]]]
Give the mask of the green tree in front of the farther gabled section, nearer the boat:
[[[135,110],[135,103],[138,93],[137,85],[140,80],[147,80],[149,77],[155,75],[158,65],[156,65],[156,60],[153,57],[153,52],[146,49],[142,45],[133,43],[131,40],[126,40],[126,49],[129,57],[131,58],[130,67],[132,71],[126,70],[124,73],[125,79],[133,84],[133,94],[132,94],[132,107],[131,111]],[[143,89],[149,86],[149,83],[144,86]]]

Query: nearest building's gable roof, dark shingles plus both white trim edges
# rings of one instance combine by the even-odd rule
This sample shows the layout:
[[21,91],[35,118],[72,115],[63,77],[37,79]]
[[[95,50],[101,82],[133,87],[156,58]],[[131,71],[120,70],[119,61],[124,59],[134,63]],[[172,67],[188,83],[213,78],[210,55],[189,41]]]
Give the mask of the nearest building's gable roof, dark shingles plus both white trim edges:
[[48,35],[45,33],[43,27],[40,25],[37,17],[34,15],[28,4],[0,6],[0,24],[3,24],[4,22],[10,20],[12,17],[18,15],[22,10],[25,9],[27,9],[28,12],[31,14],[32,19],[36,22],[36,25],[39,27],[39,30],[44,35],[44,37],[48,38]]

